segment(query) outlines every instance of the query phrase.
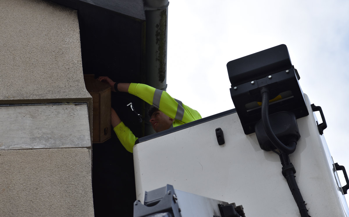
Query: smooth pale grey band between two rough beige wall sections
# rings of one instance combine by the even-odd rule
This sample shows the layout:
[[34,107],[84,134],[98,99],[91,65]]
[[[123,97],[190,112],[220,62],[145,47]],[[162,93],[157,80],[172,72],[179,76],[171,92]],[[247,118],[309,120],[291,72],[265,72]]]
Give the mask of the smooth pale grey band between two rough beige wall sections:
[[87,104],[0,106],[0,150],[90,147]]

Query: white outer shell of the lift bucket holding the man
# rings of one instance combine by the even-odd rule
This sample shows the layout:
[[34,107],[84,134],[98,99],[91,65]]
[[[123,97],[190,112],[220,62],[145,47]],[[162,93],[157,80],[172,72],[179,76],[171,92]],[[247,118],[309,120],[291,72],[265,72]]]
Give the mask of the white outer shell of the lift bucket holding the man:
[[[309,98],[305,95],[309,113]],[[314,115],[297,120],[301,138],[290,155],[309,214],[346,216],[331,155],[321,142]],[[225,144],[218,145],[221,127]],[[246,216],[300,216],[281,174],[279,156],[260,149],[255,134],[245,135],[237,113],[135,145],[137,200],[166,184],[175,189],[243,205]]]

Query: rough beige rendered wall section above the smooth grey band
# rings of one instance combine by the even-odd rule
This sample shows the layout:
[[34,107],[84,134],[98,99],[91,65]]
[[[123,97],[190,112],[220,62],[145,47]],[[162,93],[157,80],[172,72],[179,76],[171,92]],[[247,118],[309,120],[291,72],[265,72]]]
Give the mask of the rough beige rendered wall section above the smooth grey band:
[[0,104],[91,97],[76,10],[49,1],[0,0],[0,57]]

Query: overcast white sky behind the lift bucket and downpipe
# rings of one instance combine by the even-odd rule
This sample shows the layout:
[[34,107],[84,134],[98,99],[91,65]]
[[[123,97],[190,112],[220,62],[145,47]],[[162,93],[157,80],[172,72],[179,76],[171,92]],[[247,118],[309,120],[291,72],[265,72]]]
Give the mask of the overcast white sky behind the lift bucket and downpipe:
[[303,92],[324,111],[333,159],[349,172],[348,12],[347,0],[170,1],[167,91],[202,117],[232,109],[227,62],[285,44]]

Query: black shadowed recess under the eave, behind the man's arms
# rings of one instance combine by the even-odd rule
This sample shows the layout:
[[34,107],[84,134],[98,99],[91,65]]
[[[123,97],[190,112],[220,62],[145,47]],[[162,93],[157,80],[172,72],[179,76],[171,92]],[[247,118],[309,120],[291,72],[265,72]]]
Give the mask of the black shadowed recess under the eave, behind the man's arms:
[[[115,82],[144,83],[145,13],[142,0],[51,0],[77,10],[84,74],[109,76]],[[144,126],[126,105],[143,112],[144,103],[128,93],[112,93],[112,107],[137,137]],[[144,121],[143,121],[144,122]],[[133,155],[115,133],[92,145],[95,216],[133,216]]]

